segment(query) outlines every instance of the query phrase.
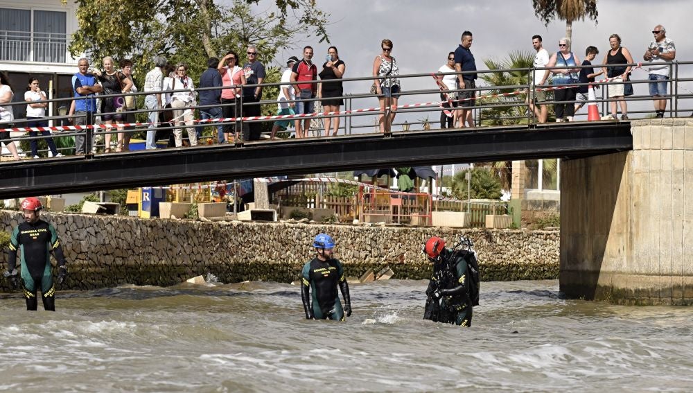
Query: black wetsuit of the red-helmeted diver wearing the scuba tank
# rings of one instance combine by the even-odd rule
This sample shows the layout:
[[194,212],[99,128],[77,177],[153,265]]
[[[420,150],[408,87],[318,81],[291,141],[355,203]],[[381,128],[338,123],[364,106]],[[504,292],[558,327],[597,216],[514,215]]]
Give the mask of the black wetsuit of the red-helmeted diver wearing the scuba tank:
[[[446,257],[433,265],[433,274],[426,290],[428,298],[423,319],[471,326],[471,279],[467,274],[467,262],[462,252],[452,254],[445,250],[444,253]],[[442,295],[439,299],[433,296],[438,289]]]

